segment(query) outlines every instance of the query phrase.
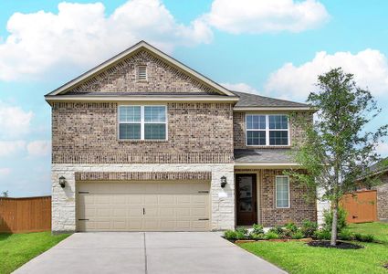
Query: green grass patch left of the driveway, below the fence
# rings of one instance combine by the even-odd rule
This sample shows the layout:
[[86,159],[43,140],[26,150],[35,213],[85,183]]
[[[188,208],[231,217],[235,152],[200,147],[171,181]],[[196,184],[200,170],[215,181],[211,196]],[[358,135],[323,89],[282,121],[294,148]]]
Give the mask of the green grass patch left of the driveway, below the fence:
[[0,233],[0,273],[11,273],[68,236],[52,236],[51,232]]

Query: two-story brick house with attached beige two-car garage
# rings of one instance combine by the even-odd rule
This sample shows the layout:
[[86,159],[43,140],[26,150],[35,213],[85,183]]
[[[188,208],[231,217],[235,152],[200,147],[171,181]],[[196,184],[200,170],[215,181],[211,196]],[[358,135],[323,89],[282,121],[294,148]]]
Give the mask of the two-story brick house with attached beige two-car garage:
[[306,104],[226,90],[145,42],[45,98],[53,232],[316,221],[283,175],[303,138],[288,114],[312,121]]

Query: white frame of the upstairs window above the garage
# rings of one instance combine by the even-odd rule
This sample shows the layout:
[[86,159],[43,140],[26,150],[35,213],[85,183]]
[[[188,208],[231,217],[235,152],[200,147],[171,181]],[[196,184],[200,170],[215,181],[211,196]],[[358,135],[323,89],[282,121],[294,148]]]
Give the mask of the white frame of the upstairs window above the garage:
[[[140,111],[140,122],[129,122],[129,121],[120,121],[120,108],[122,107],[140,107],[141,108],[141,111]],[[145,107],[163,107],[164,108],[164,117],[165,117],[165,121],[145,121],[145,112],[144,112],[144,109]],[[120,138],[120,124],[121,123],[140,123],[141,127],[140,127],[140,131],[141,131],[141,138],[140,139],[121,139]],[[144,135],[145,135],[145,124],[165,124],[165,132],[166,132],[166,136],[165,136],[165,139],[145,139],[144,138]],[[165,141],[168,141],[168,117],[167,117],[167,105],[152,105],[152,104],[146,104],[146,105],[140,105],[140,104],[134,104],[134,105],[131,105],[131,104],[122,104],[122,105],[119,105],[117,107],[117,138],[119,141],[130,141],[130,142],[140,142],[140,141],[145,141],[145,142],[148,142],[148,141],[156,141],[156,142],[165,142]]]

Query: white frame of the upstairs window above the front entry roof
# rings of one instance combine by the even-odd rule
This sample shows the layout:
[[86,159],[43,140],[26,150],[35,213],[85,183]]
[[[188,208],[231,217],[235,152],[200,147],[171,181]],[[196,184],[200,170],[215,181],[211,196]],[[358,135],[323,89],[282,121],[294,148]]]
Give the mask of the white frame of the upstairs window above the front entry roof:
[[[265,116],[266,117],[266,128],[265,129],[248,129],[247,128],[247,116],[248,115],[257,115],[257,116]],[[269,116],[287,116],[288,114],[286,113],[276,113],[276,114],[270,114],[270,113],[246,113],[246,126],[245,126],[245,136],[246,136],[246,146],[250,147],[285,147],[285,146],[290,146],[291,144],[291,136],[290,136],[290,129],[289,129],[289,117],[287,121],[287,127],[288,129],[269,129]],[[266,132],[266,144],[248,144],[248,134],[247,132]],[[287,139],[288,143],[287,144],[269,144],[269,132],[286,132],[287,131]]]

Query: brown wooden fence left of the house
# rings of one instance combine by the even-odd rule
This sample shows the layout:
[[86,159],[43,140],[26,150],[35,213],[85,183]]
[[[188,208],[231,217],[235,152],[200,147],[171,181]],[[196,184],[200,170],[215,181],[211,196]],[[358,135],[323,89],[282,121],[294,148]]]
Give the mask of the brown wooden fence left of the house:
[[0,232],[51,230],[51,196],[0,198]]

